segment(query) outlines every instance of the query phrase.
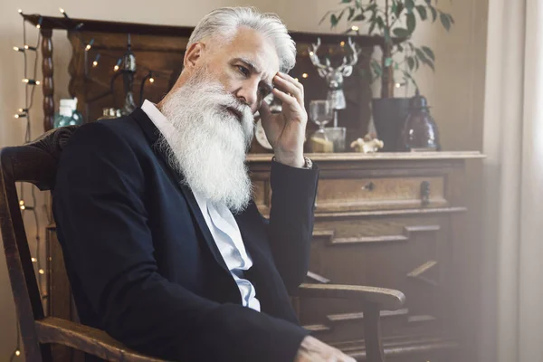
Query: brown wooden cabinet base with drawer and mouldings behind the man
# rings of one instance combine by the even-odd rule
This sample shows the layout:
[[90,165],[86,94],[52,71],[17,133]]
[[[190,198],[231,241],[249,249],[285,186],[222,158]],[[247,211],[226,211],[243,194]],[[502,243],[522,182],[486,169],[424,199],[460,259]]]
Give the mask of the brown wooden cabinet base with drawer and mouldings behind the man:
[[[472,291],[462,256],[476,240],[462,231],[467,211],[465,163],[477,152],[308,155],[319,167],[310,255],[311,282],[393,288],[405,308],[383,311],[388,361],[466,361],[462,292]],[[477,161],[474,161],[477,162]],[[271,155],[249,155],[255,200],[269,214]],[[74,318],[54,225],[48,239],[50,312]],[[462,239],[462,240],[461,240]],[[462,246],[461,246],[462,245]],[[464,247],[464,245],[468,245]],[[460,248],[459,248],[460,246]],[[454,256],[454,257],[453,257]],[[364,359],[363,314],[348,300],[303,300],[302,324],[314,335]],[[462,353],[464,353],[462,355]]]

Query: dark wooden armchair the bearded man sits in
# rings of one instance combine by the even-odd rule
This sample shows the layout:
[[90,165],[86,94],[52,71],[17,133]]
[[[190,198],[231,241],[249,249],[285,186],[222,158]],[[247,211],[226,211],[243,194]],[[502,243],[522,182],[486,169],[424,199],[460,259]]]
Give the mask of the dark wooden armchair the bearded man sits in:
[[[58,344],[110,361],[161,361],[125,347],[102,330],[46,317],[43,313],[15,183],[29,182],[42,191],[51,190],[62,148],[75,129],[75,126],[52,129],[27,145],[0,151],[0,227],[26,360],[50,362],[51,344]],[[400,309],[405,301],[401,291],[302,284],[297,297],[359,300],[364,312],[367,360],[385,360],[379,311]]]

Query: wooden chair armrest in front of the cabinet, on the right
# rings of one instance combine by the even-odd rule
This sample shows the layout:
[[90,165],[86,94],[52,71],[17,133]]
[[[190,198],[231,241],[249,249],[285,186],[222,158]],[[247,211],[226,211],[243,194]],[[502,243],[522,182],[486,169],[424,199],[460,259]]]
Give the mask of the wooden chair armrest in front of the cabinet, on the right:
[[358,285],[303,283],[295,296],[361,300],[377,304],[381,310],[399,310],[405,303],[405,295],[401,291]]

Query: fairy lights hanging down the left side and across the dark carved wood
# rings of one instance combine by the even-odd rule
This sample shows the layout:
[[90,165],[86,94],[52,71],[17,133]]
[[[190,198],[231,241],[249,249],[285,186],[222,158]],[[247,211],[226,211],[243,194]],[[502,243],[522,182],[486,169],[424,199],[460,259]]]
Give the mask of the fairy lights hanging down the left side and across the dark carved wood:
[[[61,14],[67,18],[71,19],[68,14],[66,14],[65,10],[60,8],[59,9]],[[35,24],[35,28],[38,30],[37,40],[35,43],[35,46],[33,44],[30,44],[27,39],[27,33],[26,33],[26,19],[24,18],[23,10],[19,9],[18,13],[23,17],[23,44],[14,46],[13,49],[15,52],[20,53],[23,56],[24,60],[24,78],[22,82],[24,83],[24,106],[19,108],[15,111],[14,118],[15,119],[22,119],[25,121],[25,131],[24,131],[24,143],[28,143],[33,139],[32,136],[32,116],[33,116],[33,96],[34,91],[36,87],[40,86],[42,84],[41,81],[37,79],[37,64],[38,64],[38,56],[39,56],[39,45],[41,41],[41,28],[43,24],[43,17],[38,14],[38,21],[37,24]],[[73,28],[68,29],[65,27],[64,24],[55,22],[53,18],[48,18],[49,21],[52,21],[53,23],[59,25],[59,27],[62,27],[64,30],[67,31],[75,31],[75,35],[79,38],[82,44],[84,44],[84,50],[85,52],[89,52],[90,49],[92,49],[94,45],[94,39],[90,39],[88,43],[83,42],[82,36],[81,36],[81,29],[84,27],[83,23],[76,24]],[[130,35],[128,35],[128,50],[130,50]],[[113,89],[113,81],[117,78],[117,76],[120,75],[120,73],[123,71],[123,56],[120,58],[112,57],[110,54],[98,52],[93,61],[90,63],[91,68],[97,68],[100,66],[100,59],[103,58],[110,58],[113,59],[115,62],[115,65],[112,69],[113,75],[110,82],[110,91],[103,93],[99,95],[98,97],[95,97],[93,100],[99,100],[102,97],[107,96],[112,92]],[[151,69],[148,69],[146,66],[138,65],[138,68],[143,69],[144,71],[147,71],[147,74],[143,77],[140,85],[140,103],[143,99],[143,91],[146,83],[154,83],[155,78],[165,75],[168,76],[169,74],[167,72],[163,71],[154,71]],[[88,100],[89,101],[89,100]],[[23,183],[18,184],[18,195],[19,195],[19,207],[21,209],[21,214],[24,215],[26,213],[31,213],[33,216],[33,223],[35,226],[35,250],[33,252],[32,256],[32,262],[35,264],[35,268],[37,271],[37,279],[38,279],[38,288],[40,289],[40,295],[42,297],[42,300],[46,299],[46,295],[42,291],[42,281],[43,281],[43,275],[45,274],[45,271],[43,269],[42,264],[42,258],[40,257],[40,252],[42,250],[42,241],[40,237],[40,220],[38,217],[38,207],[37,207],[37,198],[36,198],[36,188],[35,186],[30,185],[30,195],[27,194],[27,188],[28,185],[24,185]],[[14,362],[16,357],[20,357],[22,354],[22,341],[21,341],[21,333],[20,333],[20,326],[19,323],[17,323],[16,326],[17,329],[17,339],[16,339],[16,347],[14,349],[14,352],[12,353],[9,361]]]

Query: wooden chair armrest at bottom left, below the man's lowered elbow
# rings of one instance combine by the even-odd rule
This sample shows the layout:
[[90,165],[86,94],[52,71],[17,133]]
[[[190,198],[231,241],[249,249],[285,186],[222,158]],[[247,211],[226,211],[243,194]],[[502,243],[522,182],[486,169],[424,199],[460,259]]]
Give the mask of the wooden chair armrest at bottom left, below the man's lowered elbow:
[[93,329],[66,319],[48,317],[35,321],[40,343],[54,343],[89,353],[108,361],[166,362],[127,348],[100,329]]

